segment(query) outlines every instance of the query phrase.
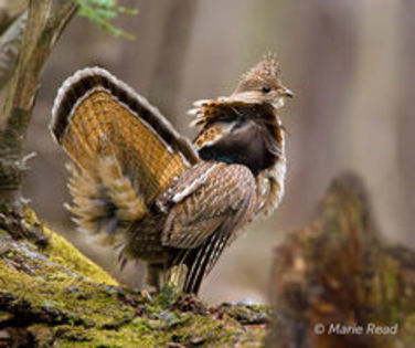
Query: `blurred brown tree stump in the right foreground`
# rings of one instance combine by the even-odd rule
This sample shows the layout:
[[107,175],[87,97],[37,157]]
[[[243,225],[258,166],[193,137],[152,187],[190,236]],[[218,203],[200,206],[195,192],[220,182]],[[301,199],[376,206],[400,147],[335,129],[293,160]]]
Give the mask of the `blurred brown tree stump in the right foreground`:
[[269,347],[415,347],[415,252],[382,239],[353,175],[276,247],[272,287]]

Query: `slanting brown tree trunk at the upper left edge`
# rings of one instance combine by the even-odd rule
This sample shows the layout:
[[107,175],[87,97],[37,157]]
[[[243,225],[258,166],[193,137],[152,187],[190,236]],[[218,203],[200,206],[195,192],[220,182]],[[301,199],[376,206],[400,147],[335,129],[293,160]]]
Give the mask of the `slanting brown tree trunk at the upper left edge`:
[[[53,45],[76,11],[72,0],[31,0],[15,70],[0,116],[0,210],[19,202],[25,170],[23,141],[32,115],[39,78]],[[19,21],[19,19],[18,19]],[[8,31],[4,35],[8,34]],[[19,42],[19,38],[15,38]]]

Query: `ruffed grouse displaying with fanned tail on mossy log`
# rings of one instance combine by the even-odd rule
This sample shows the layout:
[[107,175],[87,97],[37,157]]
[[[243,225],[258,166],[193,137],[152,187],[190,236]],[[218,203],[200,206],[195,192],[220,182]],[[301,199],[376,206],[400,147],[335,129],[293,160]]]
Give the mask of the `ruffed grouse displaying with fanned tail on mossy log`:
[[121,267],[145,262],[156,289],[198,294],[241,231],[283,199],[279,109],[292,95],[268,54],[228,97],[193,104],[190,141],[105,68],[75,72],[57,91],[50,129],[71,158],[65,207],[77,230],[117,247]]

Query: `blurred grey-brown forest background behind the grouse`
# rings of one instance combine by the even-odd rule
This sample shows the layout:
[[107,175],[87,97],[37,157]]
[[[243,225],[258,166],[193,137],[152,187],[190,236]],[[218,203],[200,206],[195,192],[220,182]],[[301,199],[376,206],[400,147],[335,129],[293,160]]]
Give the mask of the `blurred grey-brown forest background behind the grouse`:
[[[283,109],[288,138],[286,198],[224,253],[202,287],[217,303],[267,300],[272,249],[307,222],[330,179],[353,170],[365,180],[374,213],[392,242],[415,247],[415,1],[412,0],[126,0],[138,15],[111,36],[76,17],[43,73],[26,151],[36,151],[23,193],[40,218],[117,273],[113,251],[87,244],[68,213],[65,154],[47,124],[68,75],[100,65],[127,82],[189,137],[185,110],[199,98],[228,95],[242,73],[276,52],[295,93]],[[119,278],[140,286],[129,265]]]

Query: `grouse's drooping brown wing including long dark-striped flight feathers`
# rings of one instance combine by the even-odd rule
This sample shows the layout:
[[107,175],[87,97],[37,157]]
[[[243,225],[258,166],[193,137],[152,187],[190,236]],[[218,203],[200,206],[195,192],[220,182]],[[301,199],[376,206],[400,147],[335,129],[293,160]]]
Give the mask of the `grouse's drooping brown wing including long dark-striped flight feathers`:
[[175,252],[169,262],[172,280],[182,291],[198,293],[228,241],[251,221],[256,186],[251,170],[241,165],[201,162],[184,172],[160,196],[168,211],[162,243]]

